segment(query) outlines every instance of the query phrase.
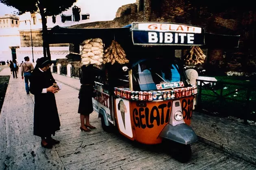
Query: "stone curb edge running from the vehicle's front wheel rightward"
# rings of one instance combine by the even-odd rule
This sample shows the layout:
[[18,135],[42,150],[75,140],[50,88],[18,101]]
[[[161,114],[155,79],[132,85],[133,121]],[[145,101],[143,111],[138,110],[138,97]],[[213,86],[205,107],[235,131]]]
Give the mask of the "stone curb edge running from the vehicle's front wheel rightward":
[[234,149],[231,149],[229,147],[226,147],[224,146],[223,144],[220,144],[220,143],[217,143],[217,142],[214,142],[213,140],[209,140],[209,139],[206,139],[206,138],[203,138],[201,136],[197,136],[198,137],[198,140],[204,144],[207,144],[211,147],[214,147],[216,149],[219,149],[223,152],[226,152],[230,155],[233,155],[234,157],[237,157],[239,159],[242,159],[244,161],[247,161],[249,162],[250,164],[254,164],[256,165],[256,158],[255,157],[252,157],[252,156],[249,156],[249,155],[246,155],[244,153],[240,153],[240,152],[237,152],[235,151]]

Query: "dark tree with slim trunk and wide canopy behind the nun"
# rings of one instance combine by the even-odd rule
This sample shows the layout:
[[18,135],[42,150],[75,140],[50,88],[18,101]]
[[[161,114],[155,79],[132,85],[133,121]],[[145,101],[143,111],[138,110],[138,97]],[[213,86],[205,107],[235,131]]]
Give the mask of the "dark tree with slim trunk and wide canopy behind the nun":
[[[43,56],[51,59],[49,43],[47,41],[47,16],[59,15],[62,11],[71,7],[76,0],[0,0],[7,6],[13,6],[19,11],[19,14],[25,12],[39,12],[42,18],[42,37],[43,37]],[[47,55],[46,55],[47,53]]]

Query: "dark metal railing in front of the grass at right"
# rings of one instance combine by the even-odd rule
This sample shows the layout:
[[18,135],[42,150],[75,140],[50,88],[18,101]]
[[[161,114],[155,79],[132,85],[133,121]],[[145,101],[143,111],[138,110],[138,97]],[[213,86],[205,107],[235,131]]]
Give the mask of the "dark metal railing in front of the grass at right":
[[[219,112],[244,120],[256,120],[256,88],[252,83],[198,80],[197,109]],[[208,84],[206,84],[208,83]]]

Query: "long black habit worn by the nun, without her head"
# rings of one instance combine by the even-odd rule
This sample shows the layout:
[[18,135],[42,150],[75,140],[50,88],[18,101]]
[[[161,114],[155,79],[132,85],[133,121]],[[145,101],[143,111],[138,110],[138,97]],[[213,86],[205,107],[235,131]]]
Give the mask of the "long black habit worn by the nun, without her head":
[[60,120],[55,96],[52,92],[42,90],[56,83],[50,70],[42,72],[38,67],[32,72],[30,92],[35,95],[34,135],[49,137],[60,130]]

